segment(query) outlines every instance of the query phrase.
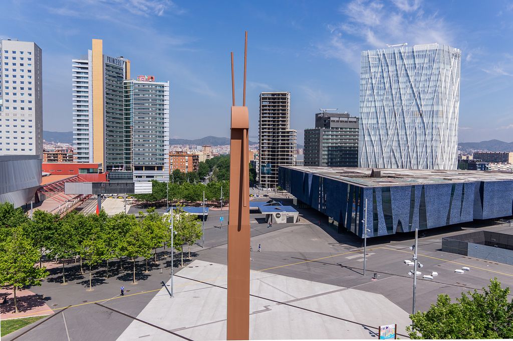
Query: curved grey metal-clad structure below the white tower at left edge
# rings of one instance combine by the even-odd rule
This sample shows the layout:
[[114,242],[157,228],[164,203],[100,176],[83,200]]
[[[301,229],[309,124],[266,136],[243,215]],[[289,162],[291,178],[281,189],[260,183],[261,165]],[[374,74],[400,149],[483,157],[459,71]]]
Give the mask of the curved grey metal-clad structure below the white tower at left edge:
[[41,178],[40,156],[0,156],[0,202],[11,202],[14,207],[30,203]]

